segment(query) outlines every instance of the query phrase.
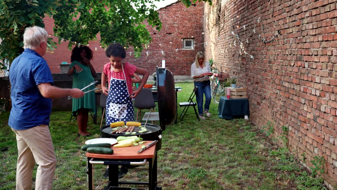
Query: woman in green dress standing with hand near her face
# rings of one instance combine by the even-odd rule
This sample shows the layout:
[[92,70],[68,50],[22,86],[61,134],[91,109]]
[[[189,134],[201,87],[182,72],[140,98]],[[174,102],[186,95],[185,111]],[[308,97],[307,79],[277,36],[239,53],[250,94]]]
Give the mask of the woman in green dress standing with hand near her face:
[[[96,77],[96,71],[91,65],[90,60],[93,58],[93,52],[87,46],[75,46],[71,51],[71,65],[68,70],[68,76],[73,76],[72,88],[82,89],[94,81]],[[89,91],[95,88],[92,85],[83,90],[83,92]],[[82,98],[72,99],[72,114],[76,117],[79,127],[78,135],[90,136],[92,134],[87,132],[88,114],[89,110],[94,112],[96,106],[95,92],[88,92]]]

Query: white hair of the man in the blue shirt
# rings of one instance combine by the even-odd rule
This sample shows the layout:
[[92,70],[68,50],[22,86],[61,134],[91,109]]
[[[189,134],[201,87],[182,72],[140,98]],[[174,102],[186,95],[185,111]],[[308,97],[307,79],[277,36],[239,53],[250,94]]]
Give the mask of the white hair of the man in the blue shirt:
[[48,33],[39,26],[31,26],[25,29],[23,34],[23,48],[35,50],[42,42],[46,41]]

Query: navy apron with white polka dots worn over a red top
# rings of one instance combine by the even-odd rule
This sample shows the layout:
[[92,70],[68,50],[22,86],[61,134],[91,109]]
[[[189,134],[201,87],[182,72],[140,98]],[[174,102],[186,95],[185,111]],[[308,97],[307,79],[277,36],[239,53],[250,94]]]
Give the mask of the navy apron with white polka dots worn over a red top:
[[[122,64],[124,80],[111,76],[108,98],[106,98],[106,125],[117,121],[133,121],[133,102],[126,84],[126,77]],[[111,71],[112,72],[112,71]]]

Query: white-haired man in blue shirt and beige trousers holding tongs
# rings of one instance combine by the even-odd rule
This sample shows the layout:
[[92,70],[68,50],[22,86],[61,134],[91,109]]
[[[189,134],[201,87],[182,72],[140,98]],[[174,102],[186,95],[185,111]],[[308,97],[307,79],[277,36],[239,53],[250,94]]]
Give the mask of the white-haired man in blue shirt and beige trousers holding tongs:
[[35,190],[51,190],[56,156],[49,132],[52,100],[72,96],[83,97],[80,89],[52,86],[53,78],[42,56],[47,51],[47,31],[38,26],[25,29],[25,51],[14,59],[9,70],[12,109],[8,125],[18,144],[17,190],[32,189],[35,162]]

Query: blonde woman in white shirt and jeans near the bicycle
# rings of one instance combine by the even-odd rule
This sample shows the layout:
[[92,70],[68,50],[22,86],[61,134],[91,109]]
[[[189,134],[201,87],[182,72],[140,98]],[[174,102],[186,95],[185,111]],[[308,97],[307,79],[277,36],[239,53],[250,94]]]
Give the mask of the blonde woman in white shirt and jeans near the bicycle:
[[[208,112],[211,104],[211,82],[209,76],[212,76],[211,67],[208,62],[205,63],[205,55],[203,52],[198,52],[195,55],[195,62],[191,65],[191,77],[194,79],[194,86],[198,89],[195,93],[196,103],[198,105],[199,117],[206,119],[211,114]],[[208,74],[208,75],[207,75]],[[203,101],[205,94],[205,110],[203,110]]]

